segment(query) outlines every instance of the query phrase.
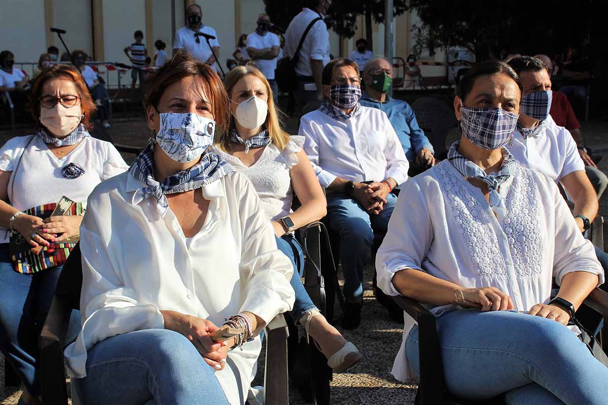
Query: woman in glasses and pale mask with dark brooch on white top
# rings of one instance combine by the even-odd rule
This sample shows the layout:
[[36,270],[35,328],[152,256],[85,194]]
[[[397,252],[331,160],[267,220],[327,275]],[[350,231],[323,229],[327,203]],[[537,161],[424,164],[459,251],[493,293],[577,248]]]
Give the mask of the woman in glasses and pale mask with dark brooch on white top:
[[[77,235],[82,216],[43,220],[22,211],[57,203],[62,196],[86,204],[93,188],[128,169],[111,143],[89,135],[95,109],[85,81],[74,67],[55,66],[33,85],[35,135],[15,137],[0,149],[0,350],[21,377],[22,403],[40,396],[38,339],[55,292],[61,265],[35,274],[13,271],[9,254],[12,231],[32,248],[52,256],[58,243]],[[74,313],[72,338],[78,332]]]

